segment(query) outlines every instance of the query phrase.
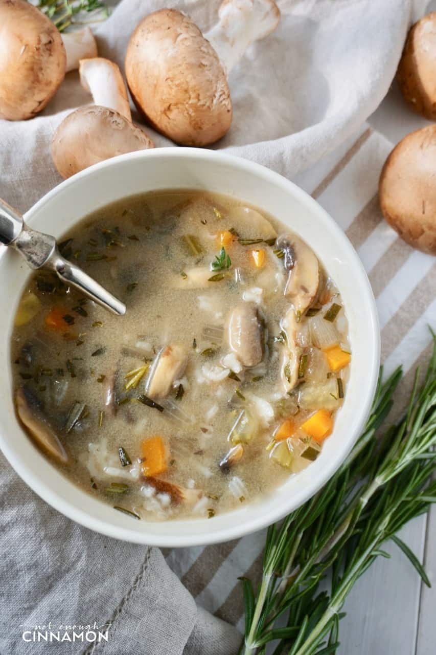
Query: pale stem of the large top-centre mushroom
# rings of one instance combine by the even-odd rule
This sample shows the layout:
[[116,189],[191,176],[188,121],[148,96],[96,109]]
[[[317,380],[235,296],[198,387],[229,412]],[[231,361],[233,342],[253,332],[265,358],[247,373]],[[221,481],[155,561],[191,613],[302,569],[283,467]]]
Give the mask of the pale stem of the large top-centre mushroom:
[[274,0],[224,0],[218,15],[219,23],[204,38],[217,52],[227,75],[249,45],[274,31],[280,21]]

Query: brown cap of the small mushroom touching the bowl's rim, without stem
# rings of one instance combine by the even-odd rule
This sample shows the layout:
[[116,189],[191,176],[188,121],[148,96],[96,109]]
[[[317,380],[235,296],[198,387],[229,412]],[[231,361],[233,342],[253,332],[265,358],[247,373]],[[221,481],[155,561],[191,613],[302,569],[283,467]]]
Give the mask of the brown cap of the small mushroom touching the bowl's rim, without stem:
[[147,134],[113,109],[80,107],[58,126],[52,139],[54,164],[63,178],[104,159],[153,148]]

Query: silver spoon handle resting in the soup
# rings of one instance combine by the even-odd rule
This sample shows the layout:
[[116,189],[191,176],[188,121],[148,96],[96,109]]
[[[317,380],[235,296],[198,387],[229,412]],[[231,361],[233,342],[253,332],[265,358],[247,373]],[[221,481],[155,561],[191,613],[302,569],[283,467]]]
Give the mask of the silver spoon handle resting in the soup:
[[1,198],[0,243],[18,250],[31,269],[50,269],[56,272],[63,282],[77,287],[101,307],[109,309],[118,316],[126,313],[124,303],[78,266],[62,257],[54,236],[31,230],[24,223],[22,215]]

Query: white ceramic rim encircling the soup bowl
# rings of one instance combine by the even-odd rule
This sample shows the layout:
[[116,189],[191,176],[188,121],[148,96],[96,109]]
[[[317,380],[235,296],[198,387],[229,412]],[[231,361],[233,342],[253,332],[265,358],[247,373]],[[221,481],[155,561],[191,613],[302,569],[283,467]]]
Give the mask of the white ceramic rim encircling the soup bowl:
[[[189,158],[200,158],[207,160],[221,160],[224,164],[228,164],[231,167],[239,168],[244,170],[247,174],[255,174],[256,176],[261,176],[266,183],[270,182],[274,185],[281,185],[286,193],[293,195],[297,198],[300,204],[306,206],[308,211],[316,216],[316,219],[324,221],[328,225],[329,231],[335,236],[335,239],[340,241],[342,248],[347,253],[349,260],[352,262],[352,267],[354,268],[355,274],[360,278],[361,286],[365,290],[365,298],[363,299],[365,307],[367,307],[368,313],[367,318],[367,332],[369,339],[371,341],[371,352],[369,355],[368,367],[371,370],[369,379],[365,381],[365,388],[362,392],[362,397],[360,398],[361,403],[359,405],[359,412],[355,420],[354,432],[348,440],[345,441],[342,448],[338,449],[336,452],[336,457],[331,457],[326,462],[324,475],[319,476],[316,481],[312,479],[309,485],[305,485],[297,494],[297,501],[294,501],[292,504],[289,503],[289,506],[282,508],[281,506],[276,506],[276,511],[270,514],[265,512],[259,512],[256,517],[251,517],[249,521],[238,523],[232,527],[220,527],[219,529],[213,530],[213,523],[208,523],[210,529],[204,534],[194,534],[191,535],[189,532],[183,531],[183,525],[187,525],[189,519],[177,519],[173,521],[168,521],[175,526],[173,534],[153,534],[153,522],[147,522],[147,531],[139,531],[130,529],[129,527],[120,527],[115,525],[115,523],[110,523],[109,521],[102,520],[98,517],[94,517],[86,510],[82,508],[76,508],[67,500],[63,498],[59,493],[53,491],[45,483],[44,479],[38,476],[31,467],[24,466],[21,462],[19,455],[14,451],[12,445],[10,445],[8,438],[4,436],[3,430],[0,430],[0,448],[3,451],[3,454],[9,460],[12,468],[16,473],[22,477],[26,484],[33,490],[37,495],[39,495],[45,502],[47,502],[54,509],[64,514],[69,519],[72,519],[80,525],[109,536],[111,538],[116,538],[118,540],[124,540],[126,542],[132,542],[136,544],[147,544],[149,546],[160,546],[160,547],[170,547],[170,548],[179,548],[186,546],[206,546],[209,544],[220,543],[236,538],[240,538],[245,534],[255,533],[261,529],[264,529],[268,525],[279,521],[285,515],[289,514],[309,498],[312,498],[316,493],[327,483],[327,481],[335,474],[336,470],[340,467],[342,462],[344,462],[348,453],[350,453],[352,447],[359,438],[359,434],[363,429],[369,412],[371,411],[372,400],[374,398],[374,392],[376,390],[376,384],[378,381],[378,371],[380,365],[380,328],[378,326],[378,312],[376,309],[376,302],[374,299],[374,294],[372,293],[371,284],[369,283],[367,273],[363,267],[363,263],[359,259],[357,253],[354,250],[350,240],[342,229],[338,226],[336,221],[331,217],[331,215],[321,207],[321,205],[308,195],[306,191],[303,191],[299,186],[297,186],[292,181],[289,181],[284,176],[270,170],[262,164],[253,162],[251,160],[243,159],[242,157],[237,157],[228,153],[223,153],[222,151],[213,151],[209,149],[201,148],[189,148],[189,147],[163,147],[150,150],[136,151],[134,153],[127,153],[125,155],[119,155],[118,157],[113,157],[112,159],[99,162],[90,166],[85,170],[82,170],[78,174],[75,174],[71,178],[65,179],[56,187],[48,191],[42,198],[40,198],[27,212],[24,214],[24,219],[31,224],[33,214],[36,214],[49,204],[54,198],[54,196],[62,193],[67,187],[77,185],[81,183],[84,178],[92,178],[93,175],[98,174],[101,170],[108,167],[116,167],[120,162],[125,160],[141,160],[144,158],[179,158],[189,159]],[[171,185],[168,187],[171,189]],[[188,188],[188,187],[186,187]],[[121,197],[121,196],[120,196]],[[79,219],[80,220],[80,219]],[[0,253],[0,257],[5,255],[7,248],[3,249],[3,253]],[[358,426],[358,427],[357,427]],[[70,481],[71,482],[71,481]],[[71,482],[71,484],[73,484]],[[233,512],[227,512],[225,515],[231,515]],[[128,517],[127,517],[128,518]],[[132,519],[129,519],[132,520]],[[194,521],[202,521],[205,519],[191,519]],[[139,522],[137,522],[139,523]],[[177,536],[176,536],[177,534]]]

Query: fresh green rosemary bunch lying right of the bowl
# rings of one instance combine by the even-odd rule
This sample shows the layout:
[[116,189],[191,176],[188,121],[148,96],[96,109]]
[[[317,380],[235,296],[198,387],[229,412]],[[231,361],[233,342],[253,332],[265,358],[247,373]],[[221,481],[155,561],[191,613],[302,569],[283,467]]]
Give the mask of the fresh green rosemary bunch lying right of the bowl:
[[[391,539],[424,582],[422,565],[396,533],[436,502],[436,340],[422,387],[414,387],[404,419],[379,438],[376,431],[393,404],[401,368],[382,383],[365,432],[335,476],[280,525],[268,529],[263,576],[257,593],[243,578],[244,655],[335,653],[339,620],[355,581]],[[319,589],[327,578],[328,591]],[[280,622],[279,622],[280,621]],[[277,622],[280,626],[276,627]]]

